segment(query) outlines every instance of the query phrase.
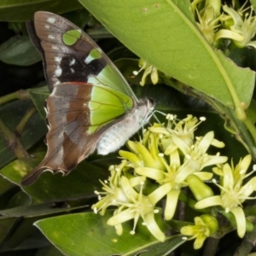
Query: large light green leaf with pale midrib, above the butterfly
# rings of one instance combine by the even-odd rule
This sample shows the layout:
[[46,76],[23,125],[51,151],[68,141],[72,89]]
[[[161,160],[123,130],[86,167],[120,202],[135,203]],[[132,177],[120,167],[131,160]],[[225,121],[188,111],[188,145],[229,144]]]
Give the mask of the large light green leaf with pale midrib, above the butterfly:
[[189,0],[79,1],[125,46],[160,71],[230,108],[233,89],[239,101],[249,106],[255,74],[236,67],[207,44]]

